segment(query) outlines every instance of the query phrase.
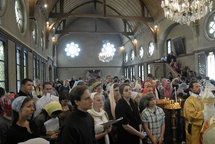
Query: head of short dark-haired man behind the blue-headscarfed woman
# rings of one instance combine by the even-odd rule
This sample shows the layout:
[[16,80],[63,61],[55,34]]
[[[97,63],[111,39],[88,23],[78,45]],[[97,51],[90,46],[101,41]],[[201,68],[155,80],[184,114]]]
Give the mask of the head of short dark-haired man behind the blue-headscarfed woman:
[[25,94],[31,94],[33,91],[33,81],[31,79],[23,79],[21,81],[21,91]]

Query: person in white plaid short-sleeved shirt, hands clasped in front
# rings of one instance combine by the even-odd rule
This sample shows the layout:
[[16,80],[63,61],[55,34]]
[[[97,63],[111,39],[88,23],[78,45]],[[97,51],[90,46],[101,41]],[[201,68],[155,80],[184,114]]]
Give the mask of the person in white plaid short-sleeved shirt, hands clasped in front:
[[162,144],[165,131],[165,114],[160,107],[156,106],[156,99],[153,93],[145,95],[145,109],[141,113],[149,139],[148,144]]

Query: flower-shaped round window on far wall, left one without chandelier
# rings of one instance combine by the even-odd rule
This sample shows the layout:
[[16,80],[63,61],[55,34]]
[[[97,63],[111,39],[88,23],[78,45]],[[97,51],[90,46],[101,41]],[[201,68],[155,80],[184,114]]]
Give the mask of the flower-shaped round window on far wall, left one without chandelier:
[[67,56],[74,58],[75,56],[79,55],[80,48],[78,44],[71,42],[66,45],[65,52]]

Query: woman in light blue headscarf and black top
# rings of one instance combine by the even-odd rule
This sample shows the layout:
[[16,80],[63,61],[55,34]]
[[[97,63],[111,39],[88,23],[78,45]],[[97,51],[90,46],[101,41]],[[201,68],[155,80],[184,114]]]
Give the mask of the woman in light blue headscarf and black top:
[[29,120],[34,113],[33,100],[19,96],[13,101],[12,110],[12,126],[7,132],[6,144],[17,144],[38,137],[35,123]]

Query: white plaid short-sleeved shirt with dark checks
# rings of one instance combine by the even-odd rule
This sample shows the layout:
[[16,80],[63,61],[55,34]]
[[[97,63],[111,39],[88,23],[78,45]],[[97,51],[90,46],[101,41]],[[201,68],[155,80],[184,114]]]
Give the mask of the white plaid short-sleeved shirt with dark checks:
[[[141,119],[144,125],[148,125],[152,136],[157,141],[161,134],[162,123],[165,121],[163,109],[156,106],[153,112],[151,109],[145,108],[141,113]],[[152,141],[148,139],[148,143],[150,144]]]

